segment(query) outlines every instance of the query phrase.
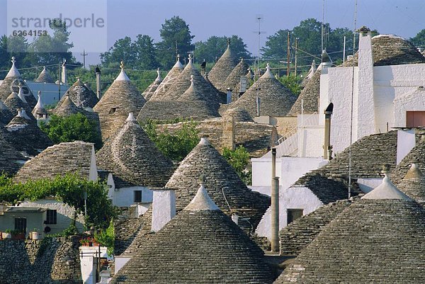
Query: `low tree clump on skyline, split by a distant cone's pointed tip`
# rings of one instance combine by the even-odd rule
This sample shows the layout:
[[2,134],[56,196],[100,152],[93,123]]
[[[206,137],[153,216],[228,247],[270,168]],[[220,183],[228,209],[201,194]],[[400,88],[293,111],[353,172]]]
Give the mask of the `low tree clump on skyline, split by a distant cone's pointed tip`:
[[[195,51],[193,52],[198,62],[215,62],[215,59],[220,58],[227,48],[227,37],[217,37],[213,35],[205,42],[195,42]],[[232,35],[230,39],[230,47],[237,58],[250,58],[251,53],[246,50],[246,44],[242,38],[237,35]]]

